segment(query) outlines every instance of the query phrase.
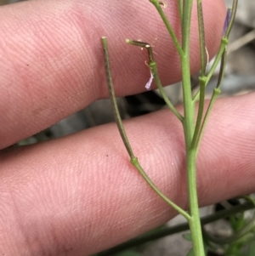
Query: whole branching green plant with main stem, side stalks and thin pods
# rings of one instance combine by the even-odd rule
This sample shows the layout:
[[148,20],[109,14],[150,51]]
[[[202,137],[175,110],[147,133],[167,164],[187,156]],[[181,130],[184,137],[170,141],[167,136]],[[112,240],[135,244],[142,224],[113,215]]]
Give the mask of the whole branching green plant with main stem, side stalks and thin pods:
[[[185,149],[186,149],[186,168],[187,168],[187,183],[188,183],[188,192],[189,192],[189,203],[190,203],[190,211],[189,213],[185,212],[184,209],[179,208],[177,204],[170,201],[167,196],[165,196],[151,179],[145,174],[143,168],[141,168],[139,161],[136,156],[133,155],[133,151],[129,145],[127,140],[127,136],[125,130],[122,125],[122,119],[119,115],[119,111],[117,110],[116,105],[116,97],[113,91],[113,85],[111,81],[111,70],[109,63],[109,56],[107,50],[107,42],[106,38],[103,38],[103,45],[105,51],[105,69],[106,69],[106,77],[109,87],[109,92],[111,95],[111,101],[113,108],[115,109],[115,116],[118,128],[120,130],[120,134],[122,135],[122,140],[124,145],[127,148],[127,152],[131,158],[131,162],[133,166],[138,169],[139,173],[144,177],[146,182],[150,185],[150,187],[156,191],[156,193],[161,196],[161,198],[167,202],[170,206],[172,206],[179,213],[183,214],[184,217],[188,220],[191,231],[191,240],[193,244],[193,252],[195,256],[203,256],[205,255],[203,239],[201,233],[201,222],[199,216],[199,205],[198,205],[198,196],[197,196],[197,187],[196,187],[196,169],[195,162],[197,157],[197,152],[199,149],[201,137],[203,131],[206,126],[207,119],[209,117],[210,111],[212,111],[212,105],[216,100],[218,94],[220,93],[220,85],[224,76],[224,67],[226,61],[226,46],[228,44],[229,32],[233,26],[233,22],[235,19],[235,12],[237,7],[237,0],[234,0],[232,6],[232,14],[230,19],[228,20],[229,24],[224,29],[224,36],[221,41],[221,45],[218,51],[218,54],[212,64],[212,68],[208,71],[206,75],[206,66],[207,66],[207,48],[206,48],[206,40],[205,40],[205,31],[204,31],[204,21],[202,14],[202,5],[201,0],[196,0],[197,2],[197,13],[198,13],[198,24],[199,24],[199,34],[200,34],[200,48],[201,48],[201,77],[200,77],[200,91],[195,94],[195,97],[192,97],[191,94],[191,86],[190,86],[190,25],[191,25],[191,10],[193,5],[193,0],[178,0],[178,13],[181,18],[181,29],[182,29],[182,42],[178,42],[178,38],[173,31],[173,27],[170,25],[167,20],[166,15],[161,9],[161,5],[166,7],[166,4],[163,1],[159,0],[150,0],[155,7],[158,13],[161,16],[162,21],[167,27],[167,31],[172,37],[173,44],[178,52],[180,57],[181,66],[182,66],[182,84],[183,84],[183,98],[184,98],[184,116],[180,115],[180,113],[175,109],[170,100],[168,100],[167,95],[164,93],[164,90],[161,86],[160,78],[158,77],[158,71],[156,68],[156,62],[153,60],[153,51],[149,43],[139,42],[139,41],[131,41],[127,40],[127,43],[131,43],[133,45],[137,45],[143,48],[147,48],[149,54],[149,66],[151,77],[149,82],[146,84],[150,88],[150,83],[154,78],[156,80],[157,87],[162,95],[162,98],[166,101],[168,107],[173,111],[176,117],[182,122],[184,128],[184,139],[185,139]],[[218,77],[217,87],[214,88],[212,98],[207,107],[207,111],[205,117],[203,117],[204,113],[204,100],[205,100],[205,89],[208,81],[212,77],[213,72],[215,71],[219,61],[221,60],[220,73]],[[195,122],[195,102],[199,99],[199,108]]]

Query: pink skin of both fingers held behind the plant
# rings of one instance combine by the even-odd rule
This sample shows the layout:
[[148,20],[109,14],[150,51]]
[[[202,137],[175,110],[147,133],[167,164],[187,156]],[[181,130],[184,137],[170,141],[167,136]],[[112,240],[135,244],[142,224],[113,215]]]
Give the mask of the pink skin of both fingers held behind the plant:
[[[178,32],[172,2],[166,12]],[[203,6],[212,56],[222,35],[225,7],[221,0],[204,0]],[[146,2],[35,0],[1,7],[0,24],[2,149],[107,97],[102,36],[109,38],[117,95],[144,91],[150,77],[146,53],[128,46],[125,38],[150,43],[157,38],[161,81],[180,79],[173,43]],[[200,60],[195,12],[190,48],[195,72]],[[197,161],[201,206],[255,191],[254,97],[224,98],[212,111]],[[158,111],[124,124],[147,174],[187,208],[178,120],[169,111]],[[0,162],[3,255],[89,255],[176,215],[129,163],[115,124],[5,149]]]

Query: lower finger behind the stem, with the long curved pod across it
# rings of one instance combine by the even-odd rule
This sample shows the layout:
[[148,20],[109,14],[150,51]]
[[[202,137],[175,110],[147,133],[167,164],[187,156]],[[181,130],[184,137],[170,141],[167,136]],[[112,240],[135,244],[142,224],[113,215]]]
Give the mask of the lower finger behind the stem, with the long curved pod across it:
[[[254,97],[218,100],[212,111],[197,162],[201,206],[254,192]],[[186,208],[178,120],[160,111],[125,128],[146,173]],[[176,214],[128,162],[113,124],[2,152],[0,162],[0,251],[8,255],[89,255]]]

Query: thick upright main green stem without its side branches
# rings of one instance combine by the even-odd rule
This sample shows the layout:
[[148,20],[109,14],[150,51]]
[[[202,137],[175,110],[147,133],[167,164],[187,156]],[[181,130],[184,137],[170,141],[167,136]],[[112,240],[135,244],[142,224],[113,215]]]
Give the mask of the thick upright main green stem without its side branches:
[[195,132],[195,106],[192,100],[190,86],[190,20],[192,3],[192,0],[184,0],[184,13],[182,23],[182,48],[184,51],[184,56],[181,57],[184,94],[183,126],[186,148],[187,182],[191,215],[191,219],[189,221],[191,240],[195,256],[204,256],[205,250],[201,233],[201,222],[199,216],[199,205],[195,175],[196,150],[191,147],[192,139]]

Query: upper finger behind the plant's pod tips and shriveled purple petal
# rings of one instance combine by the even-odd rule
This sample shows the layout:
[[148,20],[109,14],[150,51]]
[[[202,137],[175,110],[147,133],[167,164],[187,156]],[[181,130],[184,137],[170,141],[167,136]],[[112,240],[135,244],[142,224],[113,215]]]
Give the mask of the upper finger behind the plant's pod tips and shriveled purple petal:
[[[224,23],[224,3],[203,1],[207,49],[215,54]],[[177,7],[165,9],[178,33]],[[215,19],[218,13],[218,19]],[[180,79],[178,54],[152,4],[138,1],[29,1],[2,7],[0,22],[0,148],[48,128],[92,101],[108,96],[102,36],[109,38],[116,94],[144,90],[147,54],[127,37],[152,43],[164,84]],[[191,71],[199,69],[195,11]]]

